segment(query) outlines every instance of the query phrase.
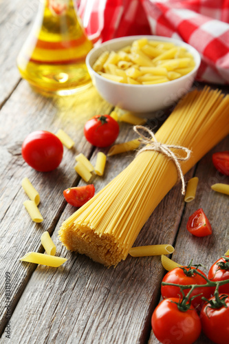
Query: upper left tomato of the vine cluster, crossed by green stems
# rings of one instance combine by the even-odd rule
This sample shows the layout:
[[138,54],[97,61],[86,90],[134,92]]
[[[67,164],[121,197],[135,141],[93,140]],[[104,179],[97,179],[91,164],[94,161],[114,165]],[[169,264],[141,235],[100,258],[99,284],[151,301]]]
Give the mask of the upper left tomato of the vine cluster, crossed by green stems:
[[[171,271],[168,271],[166,273],[166,275],[164,276],[164,278],[162,279],[162,282],[166,282],[166,283],[176,283],[176,284],[181,284],[182,286],[187,286],[188,284],[206,284],[206,280],[204,279],[204,277],[201,277],[200,275],[198,275],[195,272],[188,272],[188,270],[190,270],[187,267],[183,267],[184,270],[182,270],[182,268],[174,268]],[[193,269],[193,267],[191,267]],[[198,272],[201,273],[201,275],[205,276],[204,272],[202,272],[201,270],[197,269]],[[188,294],[188,291],[190,289],[184,289],[184,294]],[[200,288],[195,288],[193,290],[193,292],[191,293],[191,297],[193,297],[194,295],[200,294],[198,297],[195,297],[191,303],[193,305],[193,307],[195,308],[201,308],[201,305],[204,304],[204,301],[201,300],[201,297],[206,297],[206,299],[208,299],[209,297],[211,297],[211,294],[213,294],[214,292],[214,288],[210,288],[210,287],[200,287]],[[168,297],[182,297],[182,292],[180,291],[179,287],[175,287],[175,286],[162,286],[161,288],[161,293],[162,293],[162,297],[164,299],[168,298]]]

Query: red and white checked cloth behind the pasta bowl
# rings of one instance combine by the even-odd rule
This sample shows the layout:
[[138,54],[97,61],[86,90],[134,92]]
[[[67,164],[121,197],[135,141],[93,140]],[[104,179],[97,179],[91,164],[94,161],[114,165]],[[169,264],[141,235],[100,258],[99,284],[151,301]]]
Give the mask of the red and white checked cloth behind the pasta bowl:
[[78,13],[98,43],[134,34],[181,39],[201,54],[198,80],[229,83],[229,0],[80,0]]

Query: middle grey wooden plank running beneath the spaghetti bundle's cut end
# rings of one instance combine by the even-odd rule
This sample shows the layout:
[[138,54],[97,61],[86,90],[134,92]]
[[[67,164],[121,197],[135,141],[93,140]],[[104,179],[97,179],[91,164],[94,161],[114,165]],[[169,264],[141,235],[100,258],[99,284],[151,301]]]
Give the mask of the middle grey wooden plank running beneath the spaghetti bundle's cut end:
[[[122,125],[119,140],[133,134]],[[96,152],[91,161],[94,162]],[[124,169],[131,154],[110,157],[103,178],[94,178],[98,191]],[[193,171],[190,172],[192,175]],[[173,205],[171,204],[173,200]],[[173,208],[173,211],[171,211]],[[168,193],[146,223],[135,245],[173,244],[184,208],[180,185]],[[61,247],[58,228],[74,209],[67,205],[52,239],[57,255],[67,257],[58,269],[38,266],[12,314],[12,341],[20,343],[142,343],[150,331],[164,270],[160,257],[127,257],[105,268],[84,255]],[[20,263],[19,263],[20,264]],[[27,264],[22,264],[23,267]],[[23,315],[24,314],[24,315]],[[22,323],[23,322],[23,323]],[[2,337],[3,343],[6,339]]]

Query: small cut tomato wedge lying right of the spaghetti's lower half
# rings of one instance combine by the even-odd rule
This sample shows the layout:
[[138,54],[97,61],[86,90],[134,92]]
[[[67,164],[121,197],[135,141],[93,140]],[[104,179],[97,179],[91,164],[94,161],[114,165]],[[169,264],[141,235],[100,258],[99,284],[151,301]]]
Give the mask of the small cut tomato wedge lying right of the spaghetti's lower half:
[[202,208],[189,217],[187,230],[195,237],[206,237],[206,235],[212,234],[212,227]]

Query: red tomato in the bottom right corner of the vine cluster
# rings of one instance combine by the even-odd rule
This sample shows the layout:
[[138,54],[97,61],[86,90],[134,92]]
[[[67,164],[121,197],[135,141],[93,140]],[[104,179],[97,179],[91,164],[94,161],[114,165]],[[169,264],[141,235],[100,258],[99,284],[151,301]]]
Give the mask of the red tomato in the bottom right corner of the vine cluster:
[[[222,297],[223,294],[219,294]],[[210,301],[215,301],[215,297],[211,297]],[[201,309],[200,319],[202,330],[206,336],[217,344],[226,344],[229,340],[229,296],[226,297],[225,303],[219,308],[211,308],[206,303]]]

